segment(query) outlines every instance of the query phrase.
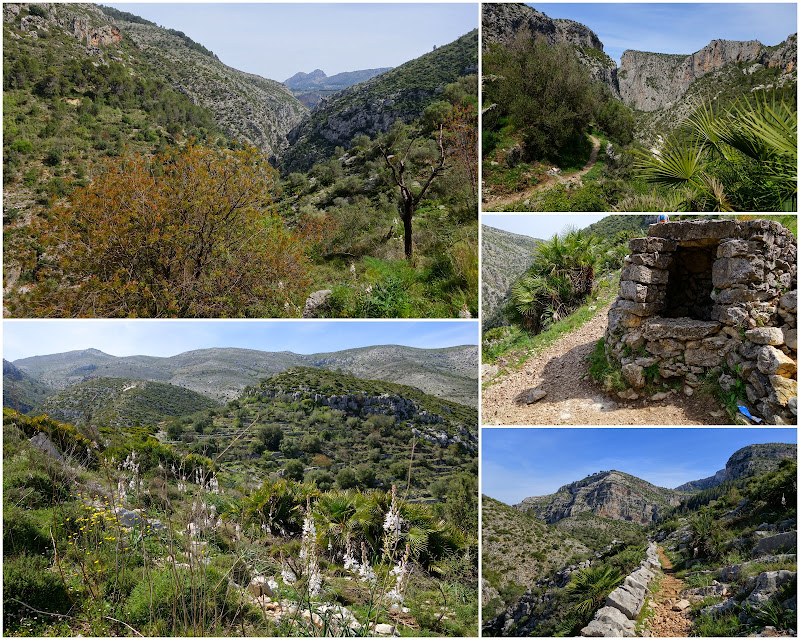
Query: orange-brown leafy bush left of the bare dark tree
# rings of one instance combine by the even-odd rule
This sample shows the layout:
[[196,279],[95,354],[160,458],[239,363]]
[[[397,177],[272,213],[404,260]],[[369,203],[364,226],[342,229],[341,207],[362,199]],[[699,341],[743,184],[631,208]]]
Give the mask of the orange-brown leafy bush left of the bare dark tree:
[[20,315],[296,315],[320,233],[275,213],[278,174],[253,148],[188,145],[110,160],[38,225]]

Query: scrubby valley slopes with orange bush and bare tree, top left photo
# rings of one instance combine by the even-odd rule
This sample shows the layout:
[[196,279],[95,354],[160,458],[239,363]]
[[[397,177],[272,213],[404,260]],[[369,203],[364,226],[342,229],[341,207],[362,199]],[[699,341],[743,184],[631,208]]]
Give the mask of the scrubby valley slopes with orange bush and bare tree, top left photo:
[[477,316],[477,32],[310,112],[117,9],[3,29],[7,315]]

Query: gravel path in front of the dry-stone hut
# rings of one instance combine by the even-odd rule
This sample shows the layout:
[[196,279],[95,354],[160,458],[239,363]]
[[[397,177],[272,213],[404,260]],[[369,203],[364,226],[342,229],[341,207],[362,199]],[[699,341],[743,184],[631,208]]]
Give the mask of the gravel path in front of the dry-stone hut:
[[[709,396],[673,392],[658,401],[621,401],[588,378],[587,357],[605,333],[610,304],[518,370],[486,386],[481,398],[483,424],[727,424],[727,414]],[[503,363],[498,364],[502,368]],[[546,395],[528,404],[532,389]]]

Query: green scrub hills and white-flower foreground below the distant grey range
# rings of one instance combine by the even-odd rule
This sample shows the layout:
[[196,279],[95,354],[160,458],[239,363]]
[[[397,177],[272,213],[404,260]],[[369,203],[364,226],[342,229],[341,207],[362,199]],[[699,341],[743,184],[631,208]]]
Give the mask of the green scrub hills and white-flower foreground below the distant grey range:
[[311,368],[47,403],[4,410],[5,634],[477,634],[474,408]]

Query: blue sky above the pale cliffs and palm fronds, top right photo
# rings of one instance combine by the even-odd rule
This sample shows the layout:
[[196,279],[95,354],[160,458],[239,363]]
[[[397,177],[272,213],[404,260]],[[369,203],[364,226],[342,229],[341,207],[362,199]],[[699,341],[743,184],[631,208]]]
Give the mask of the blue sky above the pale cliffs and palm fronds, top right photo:
[[785,3],[529,3],[550,18],[589,27],[619,64],[625,49],[690,54],[714,39],[776,45],[797,32],[797,6]]

